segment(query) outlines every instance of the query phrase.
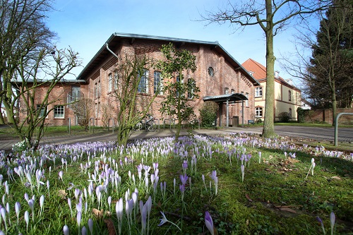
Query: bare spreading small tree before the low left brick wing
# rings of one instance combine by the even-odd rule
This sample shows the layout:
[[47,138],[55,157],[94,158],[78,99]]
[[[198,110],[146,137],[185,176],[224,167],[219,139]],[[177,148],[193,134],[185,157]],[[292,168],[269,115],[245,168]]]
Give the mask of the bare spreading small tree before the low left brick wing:
[[[28,59],[24,56],[18,61],[11,83],[13,89],[7,91],[12,97],[8,109],[13,120],[17,114],[21,116],[12,126],[20,140],[25,140],[27,147],[37,148],[47,126],[45,119],[56,108],[54,104],[65,105],[66,94],[52,95],[52,90],[79,62],[77,53],[71,49],[51,52],[42,49],[32,55],[30,64]],[[17,104],[20,104],[18,111]]]

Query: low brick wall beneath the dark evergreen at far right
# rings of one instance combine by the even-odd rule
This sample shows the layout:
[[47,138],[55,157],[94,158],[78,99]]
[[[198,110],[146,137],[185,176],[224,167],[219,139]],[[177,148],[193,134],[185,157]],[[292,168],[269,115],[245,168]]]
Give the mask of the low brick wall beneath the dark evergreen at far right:
[[[333,124],[335,120],[332,118],[332,109],[315,109],[311,110],[313,114],[305,116],[305,122],[317,121]],[[353,113],[353,109],[337,109],[337,114]],[[352,115],[343,115],[338,120],[338,123],[345,125],[353,125]]]

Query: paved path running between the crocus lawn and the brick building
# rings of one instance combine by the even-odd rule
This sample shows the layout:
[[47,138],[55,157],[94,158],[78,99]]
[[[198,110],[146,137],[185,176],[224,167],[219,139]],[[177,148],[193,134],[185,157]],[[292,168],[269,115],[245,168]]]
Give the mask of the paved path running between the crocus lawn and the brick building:
[[[334,140],[334,128],[314,128],[305,126],[275,126],[275,131],[278,135],[306,138],[314,140]],[[220,134],[220,133],[232,133],[232,132],[245,132],[245,133],[262,133],[262,128],[223,128],[222,130],[210,130],[201,129],[193,130],[194,134]],[[161,129],[156,132],[137,131],[131,135],[131,139],[135,138],[152,138],[152,137],[166,137],[173,136],[175,129]],[[181,129],[181,135],[187,135],[188,132]],[[83,142],[95,142],[95,141],[115,141],[116,133],[100,132],[92,134],[78,134],[72,133],[68,135],[63,133],[61,135],[45,136],[42,138],[41,144],[72,144],[72,143],[83,143]],[[353,128],[339,128],[338,140],[345,143],[353,143]],[[0,150],[11,150],[14,143],[17,143],[17,138],[11,139],[0,139]]]

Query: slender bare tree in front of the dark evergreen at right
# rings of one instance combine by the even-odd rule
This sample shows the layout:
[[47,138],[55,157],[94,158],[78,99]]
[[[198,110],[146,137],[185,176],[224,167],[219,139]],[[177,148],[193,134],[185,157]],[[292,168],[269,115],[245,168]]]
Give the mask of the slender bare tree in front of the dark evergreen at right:
[[[353,5],[350,0],[336,0],[335,7],[320,14],[320,28],[303,25],[298,32],[297,54],[285,59],[287,71],[301,78],[304,90],[316,107],[332,108],[333,120],[337,107],[352,105],[353,73]],[[302,32],[307,32],[303,34]],[[301,49],[301,46],[303,49]],[[311,50],[311,56],[304,51]],[[333,122],[334,124],[334,122]]]

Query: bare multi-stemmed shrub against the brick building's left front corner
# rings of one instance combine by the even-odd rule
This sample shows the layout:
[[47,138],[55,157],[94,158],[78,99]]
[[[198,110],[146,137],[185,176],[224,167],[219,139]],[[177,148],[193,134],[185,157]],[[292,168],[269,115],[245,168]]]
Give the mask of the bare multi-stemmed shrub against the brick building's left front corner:
[[151,95],[148,89],[148,70],[152,61],[147,56],[126,55],[118,57],[112,85],[112,97],[117,104],[117,142],[126,145],[131,131],[148,112],[157,93]]

